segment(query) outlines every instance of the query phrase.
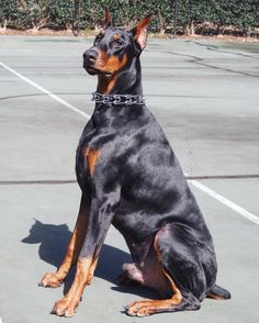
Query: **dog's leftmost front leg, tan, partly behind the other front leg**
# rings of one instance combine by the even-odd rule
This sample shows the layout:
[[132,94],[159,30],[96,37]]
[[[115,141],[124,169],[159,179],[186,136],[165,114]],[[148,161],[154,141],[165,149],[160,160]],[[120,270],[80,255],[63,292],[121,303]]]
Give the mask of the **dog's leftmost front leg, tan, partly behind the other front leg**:
[[69,272],[71,266],[77,264],[87,233],[88,214],[89,203],[88,200],[82,196],[76,226],[70,237],[64,260],[56,272],[45,274],[38,286],[50,288],[59,287]]

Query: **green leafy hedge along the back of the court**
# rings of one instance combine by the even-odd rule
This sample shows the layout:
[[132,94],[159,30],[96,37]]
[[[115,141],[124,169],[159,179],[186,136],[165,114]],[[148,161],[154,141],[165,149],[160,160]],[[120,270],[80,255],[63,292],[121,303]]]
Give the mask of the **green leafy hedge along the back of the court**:
[[[0,0],[2,29],[71,29],[75,23],[74,0]],[[79,27],[97,29],[109,7],[115,24],[133,26],[153,12],[154,32],[223,33],[238,30],[251,34],[259,27],[258,0],[80,0]],[[78,22],[77,22],[78,23]]]

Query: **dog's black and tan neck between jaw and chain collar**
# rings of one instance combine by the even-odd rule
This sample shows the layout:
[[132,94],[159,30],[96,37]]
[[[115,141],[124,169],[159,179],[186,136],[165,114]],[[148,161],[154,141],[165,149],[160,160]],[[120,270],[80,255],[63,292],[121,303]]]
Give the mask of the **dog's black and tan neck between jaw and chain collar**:
[[99,75],[97,91],[101,94],[143,96],[139,57],[134,57],[119,73],[111,76]]

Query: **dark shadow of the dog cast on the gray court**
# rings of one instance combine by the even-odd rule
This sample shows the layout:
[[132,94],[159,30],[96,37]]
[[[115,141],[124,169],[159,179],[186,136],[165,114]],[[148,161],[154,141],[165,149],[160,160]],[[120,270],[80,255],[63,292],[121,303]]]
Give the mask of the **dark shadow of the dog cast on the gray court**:
[[[59,267],[65,256],[71,232],[67,224],[45,224],[38,220],[32,225],[30,233],[22,240],[26,244],[40,244],[38,256],[42,260]],[[100,255],[99,264],[94,272],[95,277],[116,285],[116,278],[122,274],[122,265],[131,263],[131,255],[110,245],[104,244]],[[74,280],[75,267],[64,281],[64,293],[66,293]],[[43,275],[44,272],[40,272]],[[41,277],[40,277],[41,278]],[[38,280],[40,280],[38,278]],[[138,294],[144,298],[153,298],[154,292],[136,286],[114,286],[113,290]]]

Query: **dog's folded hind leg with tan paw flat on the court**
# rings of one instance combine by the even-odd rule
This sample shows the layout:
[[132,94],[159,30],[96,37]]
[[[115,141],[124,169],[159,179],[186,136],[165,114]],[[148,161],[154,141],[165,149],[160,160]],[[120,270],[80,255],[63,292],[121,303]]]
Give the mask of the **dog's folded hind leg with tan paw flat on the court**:
[[169,225],[156,234],[153,250],[142,270],[144,285],[157,289],[160,294],[168,294],[169,291],[170,296],[160,300],[136,301],[126,308],[128,315],[146,316],[159,312],[200,309],[203,292],[193,292],[192,286],[194,291],[196,286],[203,290],[204,276],[200,272],[195,256],[189,258],[189,246],[174,233]]

